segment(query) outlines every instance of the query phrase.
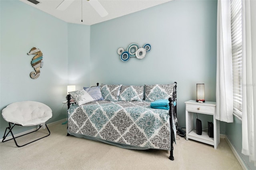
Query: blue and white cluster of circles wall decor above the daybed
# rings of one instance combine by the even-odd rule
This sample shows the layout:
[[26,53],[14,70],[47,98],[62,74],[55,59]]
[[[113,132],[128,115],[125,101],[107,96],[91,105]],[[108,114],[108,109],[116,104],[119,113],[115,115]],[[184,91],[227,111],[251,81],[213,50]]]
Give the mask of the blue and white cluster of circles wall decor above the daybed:
[[117,53],[120,55],[122,61],[128,61],[130,57],[136,57],[138,59],[143,59],[148,51],[150,51],[151,45],[146,43],[143,48],[140,48],[138,43],[131,43],[127,50],[124,51],[124,48],[118,48]]

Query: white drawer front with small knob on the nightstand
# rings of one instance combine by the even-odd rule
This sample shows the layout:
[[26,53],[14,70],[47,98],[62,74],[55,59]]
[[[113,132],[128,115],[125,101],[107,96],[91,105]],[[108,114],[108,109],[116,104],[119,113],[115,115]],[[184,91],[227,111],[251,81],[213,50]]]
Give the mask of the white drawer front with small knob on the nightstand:
[[190,105],[186,104],[186,110],[195,113],[209,113],[214,115],[215,107],[209,107],[204,105]]

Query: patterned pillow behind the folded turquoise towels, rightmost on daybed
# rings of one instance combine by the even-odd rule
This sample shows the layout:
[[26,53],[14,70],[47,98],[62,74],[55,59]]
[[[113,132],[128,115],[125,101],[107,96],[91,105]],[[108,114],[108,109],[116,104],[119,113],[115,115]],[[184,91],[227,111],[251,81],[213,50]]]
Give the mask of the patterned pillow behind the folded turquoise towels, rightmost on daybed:
[[159,99],[169,99],[172,97],[175,83],[166,85],[145,85],[145,101],[152,102]]

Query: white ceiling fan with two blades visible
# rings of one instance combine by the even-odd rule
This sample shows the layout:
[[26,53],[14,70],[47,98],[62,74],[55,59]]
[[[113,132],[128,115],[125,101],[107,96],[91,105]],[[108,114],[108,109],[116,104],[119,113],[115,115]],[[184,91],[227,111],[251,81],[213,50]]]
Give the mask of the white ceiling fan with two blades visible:
[[[98,14],[101,17],[105,17],[108,15],[108,12],[105,10],[105,8],[100,4],[100,2],[98,2],[98,0],[87,0],[88,3],[92,6],[92,8],[94,8],[94,10],[96,10],[96,12],[98,12]],[[74,2],[74,0],[63,0],[58,6],[57,6],[57,10],[61,10],[64,11],[66,10],[70,4],[72,4],[72,2]],[[82,2],[82,0],[81,0]]]

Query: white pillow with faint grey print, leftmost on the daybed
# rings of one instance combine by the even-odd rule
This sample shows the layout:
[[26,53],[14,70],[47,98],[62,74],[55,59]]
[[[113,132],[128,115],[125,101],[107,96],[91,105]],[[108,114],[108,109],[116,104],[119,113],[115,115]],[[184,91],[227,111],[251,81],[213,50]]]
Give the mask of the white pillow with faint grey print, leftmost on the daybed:
[[75,99],[76,103],[81,106],[85,103],[94,101],[94,99],[84,89],[78,91],[71,91],[69,94]]

